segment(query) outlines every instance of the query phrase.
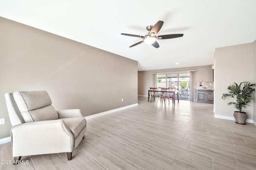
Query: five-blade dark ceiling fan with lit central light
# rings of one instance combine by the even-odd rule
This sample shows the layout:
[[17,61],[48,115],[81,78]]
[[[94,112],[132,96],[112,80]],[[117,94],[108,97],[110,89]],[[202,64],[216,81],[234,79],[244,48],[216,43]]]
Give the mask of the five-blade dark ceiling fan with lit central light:
[[171,39],[171,38],[178,38],[178,37],[182,37],[183,34],[168,34],[168,35],[159,35],[157,36],[156,34],[158,33],[158,31],[161,29],[161,27],[163,26],[164,21],[158,21],[154,26],[153,25],[148,25],[146,27],[146,29],[149,31],[149,33],[147,33],[145,36],[141,36],[141,35],[133,35],[133,34],[126,34],[126,33],[121,33],[121,35],[127,35],[127,36],[132,36],[132,37],[139,37],[142,38],[143,40],[131,45],[130,47],[134,47],[135,45],[138,45],[140,43],[146,43],[146,44],[151,44],[154,47],[158,48],[159,44],[156,42],[156,39]]

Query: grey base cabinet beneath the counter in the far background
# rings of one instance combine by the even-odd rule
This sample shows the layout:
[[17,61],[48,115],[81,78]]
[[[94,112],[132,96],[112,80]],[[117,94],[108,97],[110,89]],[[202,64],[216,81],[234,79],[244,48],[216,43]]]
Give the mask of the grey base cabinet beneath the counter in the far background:
[[213,104],[213,90],[212,89],[196,89],[196,99],[199,103]]

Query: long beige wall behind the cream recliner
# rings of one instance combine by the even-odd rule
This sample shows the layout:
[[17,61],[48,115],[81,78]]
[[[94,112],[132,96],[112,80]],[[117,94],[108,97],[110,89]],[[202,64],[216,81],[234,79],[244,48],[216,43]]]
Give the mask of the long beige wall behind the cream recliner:
[[137,61],[5,18],[0,25],[0,139],[10,136],[7,92],[46,90],[55,109],[84,116],[138,103]]

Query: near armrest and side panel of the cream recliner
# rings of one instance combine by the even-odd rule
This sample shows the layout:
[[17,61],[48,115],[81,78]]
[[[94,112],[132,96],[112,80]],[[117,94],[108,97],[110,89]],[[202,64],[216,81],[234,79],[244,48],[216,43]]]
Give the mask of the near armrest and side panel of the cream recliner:
[[13,156],[72,152],[74,136],[63,120],[22,123],[12,127]]

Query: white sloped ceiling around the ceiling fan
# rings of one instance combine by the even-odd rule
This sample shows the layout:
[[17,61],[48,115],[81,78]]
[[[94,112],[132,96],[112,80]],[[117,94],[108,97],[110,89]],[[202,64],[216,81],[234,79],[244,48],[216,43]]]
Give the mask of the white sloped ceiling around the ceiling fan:
[[[215,48],[256,40],[256,0],[0,0],[0,16],[138,61],[138,70],[214,63]],[[145,35],[164,21],[160,48]],[[175,64],[178,63],[178,64]]]

